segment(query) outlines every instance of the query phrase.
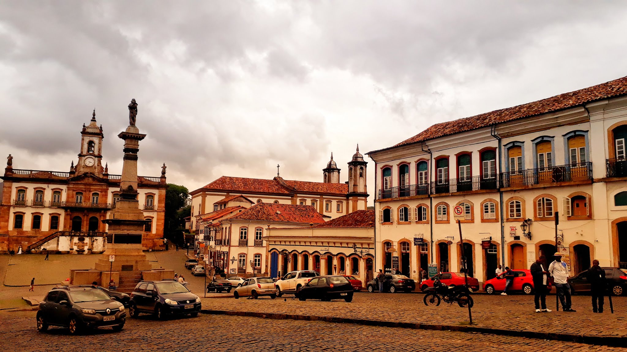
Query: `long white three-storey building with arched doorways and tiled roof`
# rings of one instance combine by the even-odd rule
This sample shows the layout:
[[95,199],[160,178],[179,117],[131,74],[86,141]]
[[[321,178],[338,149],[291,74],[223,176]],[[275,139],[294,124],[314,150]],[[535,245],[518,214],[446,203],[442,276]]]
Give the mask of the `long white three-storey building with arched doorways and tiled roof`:
[[430,263],[460,271],[465,261],[485,281],[498,263],[528,269],[556,251],[571,275],[595,258],[627,267],[626,138],[627,77],[438,123],[369,152],[376,267],[418,279]]

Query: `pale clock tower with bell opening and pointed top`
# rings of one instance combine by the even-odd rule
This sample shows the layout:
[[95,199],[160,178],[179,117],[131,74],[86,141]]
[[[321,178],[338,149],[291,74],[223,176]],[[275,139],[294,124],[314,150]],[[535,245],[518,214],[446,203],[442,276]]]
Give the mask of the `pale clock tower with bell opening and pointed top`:
[[91,172],[102,177],[102,126],[96,125],[96,110],[93,110],[89,125],[83,123],[81,131],[80,153],[76,163],[76,175]]

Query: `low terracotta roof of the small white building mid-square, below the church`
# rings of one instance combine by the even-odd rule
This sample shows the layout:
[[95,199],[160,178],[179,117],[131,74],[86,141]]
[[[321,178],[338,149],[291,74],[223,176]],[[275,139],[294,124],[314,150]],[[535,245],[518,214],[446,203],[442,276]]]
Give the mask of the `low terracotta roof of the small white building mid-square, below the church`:
[[311,205],[260,203],[229,217],[229,220],[261,220],[322,224],[322,214]]

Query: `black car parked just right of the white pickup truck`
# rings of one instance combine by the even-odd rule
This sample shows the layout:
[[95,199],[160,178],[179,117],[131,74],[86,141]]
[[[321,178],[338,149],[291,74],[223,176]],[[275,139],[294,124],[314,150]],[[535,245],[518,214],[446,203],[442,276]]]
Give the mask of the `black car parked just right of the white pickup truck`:
[[316,276],[298,291],[298,299],[300,301],[307,299],[322,299],[322,301],[344,299],[344,301],[350,302],[352,301],[352,295],[352,284],[346,277],[339,275]]

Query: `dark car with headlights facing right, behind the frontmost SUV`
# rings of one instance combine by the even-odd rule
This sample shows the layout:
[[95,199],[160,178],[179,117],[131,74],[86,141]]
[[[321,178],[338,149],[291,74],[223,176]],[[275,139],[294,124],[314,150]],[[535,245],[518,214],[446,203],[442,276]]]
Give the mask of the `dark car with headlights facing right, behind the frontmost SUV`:
[[130,294],[129,314],[136,318],[139,313],[155,314],[165,319],[169,314],[198,316],[200,298],[174,279],[141,281]]

